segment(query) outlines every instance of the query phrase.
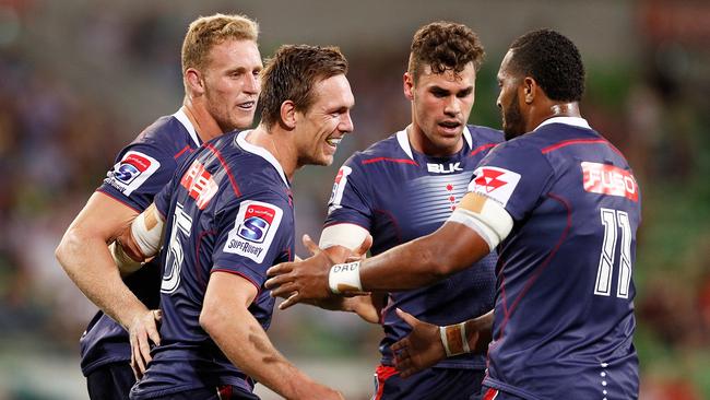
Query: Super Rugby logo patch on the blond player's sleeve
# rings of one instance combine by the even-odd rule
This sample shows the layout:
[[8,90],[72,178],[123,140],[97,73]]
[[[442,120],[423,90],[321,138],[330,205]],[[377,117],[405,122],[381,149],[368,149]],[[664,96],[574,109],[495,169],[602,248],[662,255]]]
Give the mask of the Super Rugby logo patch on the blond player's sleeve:
[[145,153],[129,151],[114,168],[106,174],[106,183],[131,196],[158,168],[161,163]]

